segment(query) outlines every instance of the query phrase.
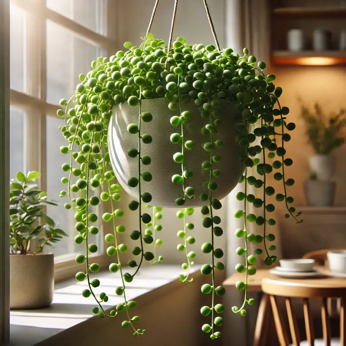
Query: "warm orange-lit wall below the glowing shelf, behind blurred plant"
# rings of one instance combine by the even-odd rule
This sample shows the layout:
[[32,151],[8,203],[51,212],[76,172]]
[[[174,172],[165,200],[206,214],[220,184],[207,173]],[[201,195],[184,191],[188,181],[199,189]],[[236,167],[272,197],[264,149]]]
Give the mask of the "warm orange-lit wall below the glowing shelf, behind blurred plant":
[[[312,146],[309,144],[308,138],[305,135],[305,125],[300,117],[300,103],[298,102],[298,98],[301,98],[304,104],[310,107],[314,102],[319,102],[327,114],[330,111],[338,111],[340,108],[346,108],[346,68],[337,66],[273,66],[270,72],[276,75],[275,85],[280,85],[283,89],[280,103],[282,106],[287,106],[290,109],[288,121],[293,121],[297,125],[296,129],[291,132],[291,141],[286,143],[287,157],[292,158],[293,165],[285,168],[285,177],[286,179],[292,177],[295,180],[295,184],[288,188],[288,193],[294,197],[294,206],[298,211],[300,206],[306,205],[303,182],[309,176],[309,157],[314,155]],[[335,150],[332,154],[336,160],[336,206],[346,206],[345,154],[346,146]],[[274,181],[273,186],[277,192],[282,192],[282,182]],[[280,227],[283,233],[283,239],[287,238],[289,240],[289,235],[293,235],[291,232],[294,232],[296,227],[299,227],[301,231],[306,229],[306,223],[304,224],[304,222],[297,226],[293,220],[283,218],[285,213],[283,202],[276,203],[276,205],[279,211],[278,215],[280,215]],[[302,217],[304,219],[303,215]],[[306,237],[308,236],[306,235]],[[321,246],[323,247],[323,244],[316,243],[315,246],[316,248],[320,248]],[[289,252],[285,253],[289,255]]]

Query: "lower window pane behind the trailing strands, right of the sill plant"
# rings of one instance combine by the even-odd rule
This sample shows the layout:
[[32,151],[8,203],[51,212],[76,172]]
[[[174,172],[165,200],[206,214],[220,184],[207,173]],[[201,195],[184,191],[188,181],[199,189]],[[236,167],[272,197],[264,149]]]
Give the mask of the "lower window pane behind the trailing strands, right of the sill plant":
[[[59,126],[64,125],[64,120],[47,116],[47,194],[48,200],[55,200],[58,202],[58,206],[47,206],[47,215],[51,217],[55,222],[58,223],[58,227],[64,230],[69,237],[64,237],[58,243],[54,244],[54,248],[46,249],[46,251],[52,251],[55,256],[60,255],[72,255],[77,252],[83,252],[85,250],[85,243],[82,245],[77,245],[74,242],[74,237],[77,235],[77,231],[74,228],[74,211],[73,208],[66,210],[64,208],[64,203],[69,203],[69,198],[67,195],[65,197],[59,197],[61,190],[67,189],[67,184],[61,183],[61,178],[63,176],[68,177],[68,173],[61,169],[61,166],[65,162],[70,162],[70,156],[64,155],[60,152],[60,146],[67,145],[66,139],[59,130]],[[75,180],[78,178],[75,177]],[[95,193],[95,192],[92,192]],[[71,198],[78,197],[78,194],[71,195]],[[96,207],[93,208],[93,212],[96,211]],[[99,227],[99,223],[95,222],[93,224]],[[89,234],[89,243],[97,244],[102,246],[100,242],[100,233],[96,236]],[[99,246],[99,253],[102,248]]]

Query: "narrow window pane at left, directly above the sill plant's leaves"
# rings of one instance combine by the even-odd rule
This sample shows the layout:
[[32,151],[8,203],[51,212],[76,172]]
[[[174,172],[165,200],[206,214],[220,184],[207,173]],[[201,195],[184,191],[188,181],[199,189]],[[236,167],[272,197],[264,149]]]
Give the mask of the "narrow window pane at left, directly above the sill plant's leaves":
[[25,113],[10,107],[10,177],[24,171]]

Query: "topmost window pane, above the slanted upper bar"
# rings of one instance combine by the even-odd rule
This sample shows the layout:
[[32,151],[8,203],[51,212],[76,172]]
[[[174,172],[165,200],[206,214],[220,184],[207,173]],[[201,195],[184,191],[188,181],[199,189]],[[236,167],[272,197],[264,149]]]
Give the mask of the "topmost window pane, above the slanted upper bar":
[[103,34],[103,0],[46,0],[46,4],[49,9]]

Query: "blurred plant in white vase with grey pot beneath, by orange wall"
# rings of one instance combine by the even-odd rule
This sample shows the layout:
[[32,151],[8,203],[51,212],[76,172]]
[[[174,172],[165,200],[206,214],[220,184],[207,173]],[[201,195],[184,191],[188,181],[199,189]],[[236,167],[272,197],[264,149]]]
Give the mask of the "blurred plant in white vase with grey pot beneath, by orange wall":
[[307,135],[316,153],[309,158],[310,179],[305,182],[307,203],[316,207],[329,207],[334,203],[336,183],[331,181],[335,162],[330,153],[345,142],[345,111],[331,112],[327,116],[318,103],[314,111],[302,105],[301,115],[306,122]]

